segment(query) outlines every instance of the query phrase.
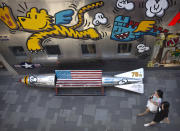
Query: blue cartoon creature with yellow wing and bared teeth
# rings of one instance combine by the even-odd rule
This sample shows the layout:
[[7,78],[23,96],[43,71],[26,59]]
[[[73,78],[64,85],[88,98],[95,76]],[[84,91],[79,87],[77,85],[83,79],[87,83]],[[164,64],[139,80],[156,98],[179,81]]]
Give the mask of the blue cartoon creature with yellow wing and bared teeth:
[[155,26],[155,21],[134,22],[129,16],[117,16],[111,32],[111,39],[121,42],[137,40],[144,35],[157,36],[169,30]]

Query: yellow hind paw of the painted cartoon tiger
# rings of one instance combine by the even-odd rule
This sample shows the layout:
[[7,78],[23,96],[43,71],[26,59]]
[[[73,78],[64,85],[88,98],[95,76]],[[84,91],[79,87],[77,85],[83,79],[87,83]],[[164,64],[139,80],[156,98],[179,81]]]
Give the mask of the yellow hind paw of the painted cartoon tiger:
[[101,39],[101,35],[94,28],[87,29],[87,33],[90,39],[93,39],[93,40]]

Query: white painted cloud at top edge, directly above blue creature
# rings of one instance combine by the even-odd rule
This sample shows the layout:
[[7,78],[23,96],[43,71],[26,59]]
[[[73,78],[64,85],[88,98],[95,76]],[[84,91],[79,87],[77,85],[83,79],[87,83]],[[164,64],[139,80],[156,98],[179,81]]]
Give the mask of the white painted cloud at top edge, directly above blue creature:
[[117,0],[116,7],[118,9],[133,10],[134,3],[128,2],[128,0]]

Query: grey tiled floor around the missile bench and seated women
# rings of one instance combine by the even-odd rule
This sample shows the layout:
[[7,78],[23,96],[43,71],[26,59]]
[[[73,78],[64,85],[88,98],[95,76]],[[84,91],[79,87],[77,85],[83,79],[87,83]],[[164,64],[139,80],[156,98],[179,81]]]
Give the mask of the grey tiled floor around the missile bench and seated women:
[[[116,72],[118,73],[118,72]],[[116,74],[106,72],[105,74]],[[145,93],[106,88],[105,96],[54,96],[0,75],[0,131],[177,131],[180,129],[180,70],[145,70]],[[144,127],[154,114],[136,117],[157,89],[170,102],[170,124]]]

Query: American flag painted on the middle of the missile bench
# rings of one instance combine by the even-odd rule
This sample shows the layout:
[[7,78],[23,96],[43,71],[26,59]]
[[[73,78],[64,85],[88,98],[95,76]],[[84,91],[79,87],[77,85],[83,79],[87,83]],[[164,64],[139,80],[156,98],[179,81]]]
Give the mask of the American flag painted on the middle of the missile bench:
[[101,87],[101,70],[56,70],[56,87]]

